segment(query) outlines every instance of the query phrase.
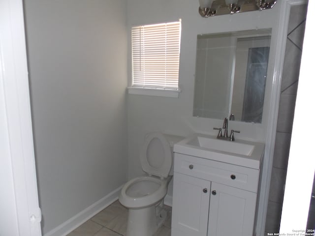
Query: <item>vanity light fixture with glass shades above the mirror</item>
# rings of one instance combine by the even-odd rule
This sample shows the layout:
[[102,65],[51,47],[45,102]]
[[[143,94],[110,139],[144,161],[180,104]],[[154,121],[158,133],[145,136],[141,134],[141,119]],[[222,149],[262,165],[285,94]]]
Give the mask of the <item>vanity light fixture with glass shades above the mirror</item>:
[[227,15],[272,8],[277,0],[199,0],[202,17]]

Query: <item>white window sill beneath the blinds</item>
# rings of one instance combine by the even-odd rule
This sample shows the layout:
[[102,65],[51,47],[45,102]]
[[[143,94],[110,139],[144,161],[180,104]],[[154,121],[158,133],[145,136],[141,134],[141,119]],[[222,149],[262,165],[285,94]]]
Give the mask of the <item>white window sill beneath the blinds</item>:
[[127,87],[129,94],[139,94],[139,95],[149,95],[158,97],[179,97],[181,89],[171,90],[171,89],[150,89],[150,88],[137,88],[137,87]]

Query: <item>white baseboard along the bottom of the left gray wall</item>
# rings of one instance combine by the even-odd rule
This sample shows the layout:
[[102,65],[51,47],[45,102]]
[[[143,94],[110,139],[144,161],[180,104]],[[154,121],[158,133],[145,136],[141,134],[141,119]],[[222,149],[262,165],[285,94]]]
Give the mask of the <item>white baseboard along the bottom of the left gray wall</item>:
[[98,200],[96,203],[92,204],[90,207],[85,208],[80,213],[68,219],[63,224],[59,225],[55,229],[49,231],[44,236],[66,236],[71,231],[82,225],[88,219],[93,217],[95,214],[100,212],[105,207],[108,207],[113,202],[118,199],[119,193],[123,185],[115,189],[111,193],[107,194],[102,199]]

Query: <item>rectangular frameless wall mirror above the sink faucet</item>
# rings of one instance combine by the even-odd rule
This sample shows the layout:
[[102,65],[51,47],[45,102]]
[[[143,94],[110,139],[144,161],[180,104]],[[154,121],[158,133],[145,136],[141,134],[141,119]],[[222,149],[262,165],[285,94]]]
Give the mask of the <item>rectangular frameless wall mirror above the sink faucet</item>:
[[261,123],[271,29],[197,35],[193,116]]

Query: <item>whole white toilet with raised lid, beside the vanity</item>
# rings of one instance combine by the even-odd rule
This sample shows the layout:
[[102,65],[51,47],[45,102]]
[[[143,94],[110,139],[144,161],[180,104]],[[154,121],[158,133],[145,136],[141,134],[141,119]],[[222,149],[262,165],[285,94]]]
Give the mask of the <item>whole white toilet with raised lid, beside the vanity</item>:
[[163,200],[173,176],[173,145],[183,138],[158,132],[146,136],[140,153],[143,176],[129,180],[119,196],[128,208],[126,236],[153,236],[166,217]]

